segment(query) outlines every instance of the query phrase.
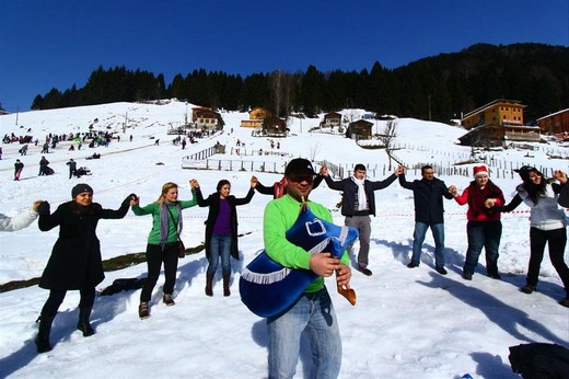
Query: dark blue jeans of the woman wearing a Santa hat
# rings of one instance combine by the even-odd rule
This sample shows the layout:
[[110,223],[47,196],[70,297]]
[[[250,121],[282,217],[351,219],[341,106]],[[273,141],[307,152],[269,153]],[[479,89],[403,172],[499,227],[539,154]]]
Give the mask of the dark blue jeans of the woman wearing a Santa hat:
[[468,221],[466,234],[468,237],[468,250],[466,250],[463,272],[474,274],[484,248],[486,251],[486,273],[488,275],[498,274],[498,250],[502,237],[502,222],[500,220]]

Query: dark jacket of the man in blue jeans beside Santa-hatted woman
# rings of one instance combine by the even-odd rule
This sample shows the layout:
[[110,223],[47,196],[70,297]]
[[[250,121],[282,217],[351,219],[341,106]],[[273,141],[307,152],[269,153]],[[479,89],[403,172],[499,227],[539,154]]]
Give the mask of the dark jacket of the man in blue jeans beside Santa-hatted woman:
[[415,221],[428,225],[444,222],[444,207],[442,198],[452,199],[454,196],[440,179],[434,177],[432,181],[425,179],[407,182],[405,174],[399,175],[399,184],[402,187],[411,190],[415,202]]

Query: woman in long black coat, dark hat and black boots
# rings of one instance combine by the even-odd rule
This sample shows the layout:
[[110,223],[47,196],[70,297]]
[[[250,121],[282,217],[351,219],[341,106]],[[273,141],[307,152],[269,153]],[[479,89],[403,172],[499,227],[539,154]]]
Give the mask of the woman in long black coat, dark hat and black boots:
[[129,195],[117,210],[104,209],[93,203],[91,186],[78,184],[71,191],[73,199],[61,204],[55,213],[49,213],[47,202],[39,206],[39,230],[47,231],[59,226],[59,238],[39,280],[39,287],[49,289],[49,297],[39,317],[39,331],[35,340],[38,353],[51,349],[51,322],[68,290],[78,289],[81,294],[77,329],[83,332],[83,336],[95,333],[89,318],[95,301],[95,286],[105,278],[95,229],[100,219],[124,218],[132,196]]

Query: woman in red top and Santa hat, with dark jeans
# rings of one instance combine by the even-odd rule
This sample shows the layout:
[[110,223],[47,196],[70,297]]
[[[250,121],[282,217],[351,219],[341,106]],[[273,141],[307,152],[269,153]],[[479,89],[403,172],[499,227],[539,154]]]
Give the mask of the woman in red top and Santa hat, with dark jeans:
[[490,181],[485,165],[474,166],[474,181],[458,195],[456,186],[449,187],[454,199],[460,205],[468,204],[466,218],[466,236],[468,249],[463,267],[463,278],[472,280],[474,269],[478,265],[478,257],[485,248],[486,274],[492,279],[500,279],[498,272],[498,249],[502,237],[500,213],[490,209],[491,206],[503,205],[502,191]]

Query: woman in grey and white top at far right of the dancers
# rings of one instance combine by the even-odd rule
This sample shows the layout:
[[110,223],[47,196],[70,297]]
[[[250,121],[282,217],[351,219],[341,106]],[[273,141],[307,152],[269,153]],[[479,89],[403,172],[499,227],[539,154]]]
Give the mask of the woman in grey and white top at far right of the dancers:
[[530,214],[530,267],[526,284],[520,290],[532,294],[537,287],[539,266],[544,257],[545,244],[549,244],[549,259],[565,286],[566,298],[559,303],[569,307],[569,267],[564,260],[567,245],[567,221],[565,213],[557,205],[561,186],[544,177],[535,168],[524,165],[514,170],[523,183],[515,187],[516,194],[512,200],[497,207],[500,211],[512,211],[525,203]]

